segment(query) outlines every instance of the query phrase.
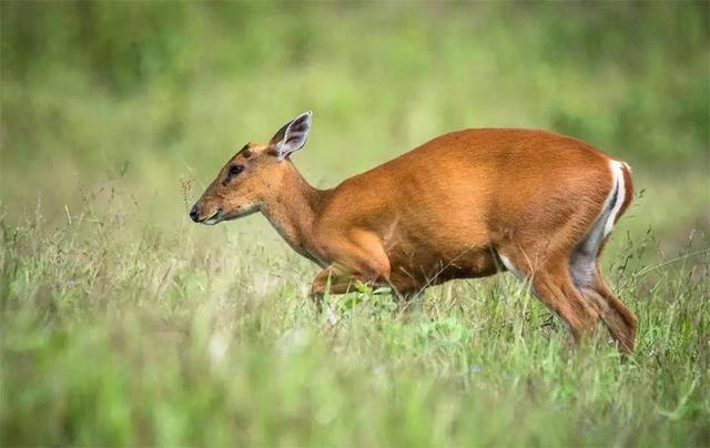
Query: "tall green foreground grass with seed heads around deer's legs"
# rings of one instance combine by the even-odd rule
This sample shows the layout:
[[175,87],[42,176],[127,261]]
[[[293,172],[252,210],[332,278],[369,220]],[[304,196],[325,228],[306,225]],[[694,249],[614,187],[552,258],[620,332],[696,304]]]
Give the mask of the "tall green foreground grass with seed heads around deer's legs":
[[508,275],[430,288],[413,315],[333,297],[331,326],[307,299],[314,266],[234,232],[248,221],[158,231],[97,208],[2,220],[2,445],[710,440],[707,241],[667,264],[648,264],[651,238],[611,257],[639,316],[625,358],[605,332],[571,350]]

